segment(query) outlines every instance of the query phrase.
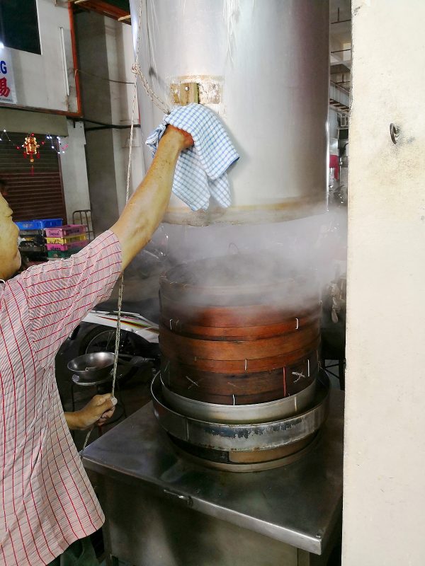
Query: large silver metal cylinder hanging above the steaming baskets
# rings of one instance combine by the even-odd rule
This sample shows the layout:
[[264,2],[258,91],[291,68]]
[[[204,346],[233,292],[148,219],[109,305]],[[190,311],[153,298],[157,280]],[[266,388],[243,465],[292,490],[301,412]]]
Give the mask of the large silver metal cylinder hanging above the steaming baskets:
[[[197,96],[241,156],[229,171],[232,207],[192,212],[172,197],[164,220],[264,223],[324,212],[328,1],[130,0],[135,44],[140,2],[140,67],[154,91],[171,106]],[[141,86],[139,105],[145,138],[162,112]]]

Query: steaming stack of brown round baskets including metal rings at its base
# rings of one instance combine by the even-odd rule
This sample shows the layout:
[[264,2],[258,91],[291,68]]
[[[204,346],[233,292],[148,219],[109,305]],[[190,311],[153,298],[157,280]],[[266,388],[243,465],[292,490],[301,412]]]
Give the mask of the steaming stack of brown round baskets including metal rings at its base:
[[160,285],[154,407],[179,449],[247,471],[312,446],[327,415],[310,274],[244,255],[179,265]]

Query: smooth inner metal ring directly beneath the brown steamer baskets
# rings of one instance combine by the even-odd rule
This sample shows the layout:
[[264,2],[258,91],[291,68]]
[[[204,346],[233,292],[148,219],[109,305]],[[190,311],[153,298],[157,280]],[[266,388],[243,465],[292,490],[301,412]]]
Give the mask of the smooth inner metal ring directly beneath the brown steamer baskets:
[[161,379],[162,395],[167,405],[182,415],[207,422],[252,424],[280,420],[297,415],[312,405],[316,393],[316,379],[295,395],[268,403],[249,405],[220,405],[183,397],[171,391]]

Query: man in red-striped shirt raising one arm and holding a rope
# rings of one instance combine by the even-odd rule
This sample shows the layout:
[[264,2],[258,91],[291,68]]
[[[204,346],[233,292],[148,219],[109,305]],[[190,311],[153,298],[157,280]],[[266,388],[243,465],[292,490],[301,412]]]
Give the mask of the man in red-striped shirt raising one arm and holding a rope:
[[[0,196],[0,564],[50,564],[103,524],[103,513],[69,434],[113,409],[98,396],[64,415],[55,355],[86,313],[111,293],[149,241],[171,195],[189,134],[173,127],[111,230],[68,260],[20,266],[18,229]],[[105,414],[106,413],[106,414]],[[103,415],[103,417],[102,417]]]

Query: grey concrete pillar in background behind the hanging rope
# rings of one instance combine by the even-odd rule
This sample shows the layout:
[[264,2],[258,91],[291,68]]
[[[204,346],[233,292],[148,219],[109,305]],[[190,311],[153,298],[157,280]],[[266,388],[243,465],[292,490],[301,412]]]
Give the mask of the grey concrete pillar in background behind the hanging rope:
[[[134,62],[130,25],[82,12],[76,16],[84,117],[108,125],[129,126]],[[108,80],[109,79],[109,80]],[[136,105],[135,124],[139,112]],[[108,229],[125,206],[130,128],[96,129],[86,122],[89,191],[96,233]],[[134,130],[130,195],[143,177],[140,129]]]

